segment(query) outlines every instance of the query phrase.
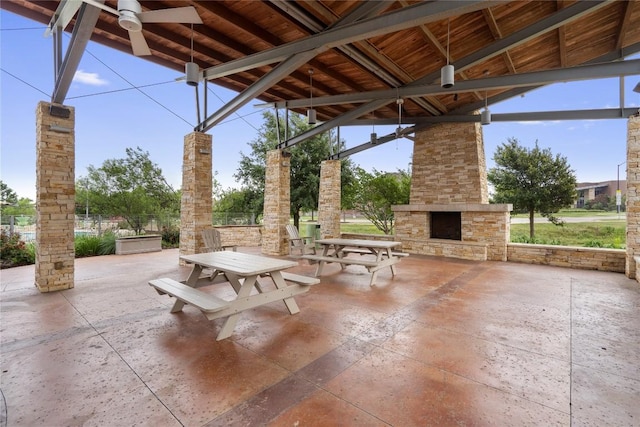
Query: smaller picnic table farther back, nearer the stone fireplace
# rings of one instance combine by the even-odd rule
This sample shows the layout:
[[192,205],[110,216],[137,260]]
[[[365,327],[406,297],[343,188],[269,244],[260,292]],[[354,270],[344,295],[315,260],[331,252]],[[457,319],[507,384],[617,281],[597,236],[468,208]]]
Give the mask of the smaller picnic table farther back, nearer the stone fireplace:
[[[378,271],[389,267],[391,274],[395,276],[395,264],[400,258],[408,254],[402,252],[393,252],[392,249],[400,246],[401,242],[389,240],[365,240],[365,239],[318,239],[316,244],[323,247],[322,255],[303,255],[303,259],[310,262],[317,262],[316,277],[322,274],[322,268],[327,263],[340,263],[342,270],[348,265],[361,265],[367,268],[371,273],[370,285],[376,281]],[[357,257],[348,256],[349,254],[360,255]],[[375,259],[365,258],[362,255],[373,255]]]

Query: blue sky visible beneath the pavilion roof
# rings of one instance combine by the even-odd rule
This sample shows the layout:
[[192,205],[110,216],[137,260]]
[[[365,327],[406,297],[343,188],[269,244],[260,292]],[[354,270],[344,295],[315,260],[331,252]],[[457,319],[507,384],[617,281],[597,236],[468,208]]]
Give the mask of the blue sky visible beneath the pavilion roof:
[[[44,38],[42,24],[6,11],[0,11],[0,30],[0,179],[18,196],[35,199],[35,110],[39,101],[50,101],[53,42]],[[89,43],[78,69],[65,101],[76,111],[76,178],[86,175],[87,166],[123,158],[125,148],[139,146],[149,151],[169,183],[180,188],[183,140],[196,124],[193,88],[175,81],[180,73],[96,43]],[[640,104],[640,94],[633,92],[638,82],[640,76],[625,78],[626,107]],[[209,114],[236,95],[209,87]],[[247,143],[258,135],[258,103],[248,104],[208,132],[213,136],[214,172],[224,188],[236,186],[239,152],[248,153]],[[489,109],[507,113],[619,106],[615,78],[554,84]],[[352,147],[367,141],[371,130],[343,127],[340,134]],[[392,130],[376,127],[376,132],[382,136]],[[529,147],[537,140],[541,148],[567,157],[580,182],[615,180],[618,165],[626,160],[626,132],[626,119],[494,122],[483,127],[487,167],[493,166],[496,147],[515,137]],[[367,170],[395,171],[407,168],[412,149],[410,140],[401,139],[351,159]],[[620,179],[625,179],[625,165],[619,170]]]

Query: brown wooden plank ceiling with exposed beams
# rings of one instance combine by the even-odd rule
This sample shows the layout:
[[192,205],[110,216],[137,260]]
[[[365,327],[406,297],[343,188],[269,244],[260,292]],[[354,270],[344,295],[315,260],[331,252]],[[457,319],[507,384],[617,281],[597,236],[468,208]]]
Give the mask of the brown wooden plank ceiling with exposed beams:
[[[3,9],[45,24],[58,4],[0,2]],[[116,8],[117,2],[105,4]],[[319,120],[336,124],[340,117],[347,118],[342,123],[374,117],[397,121],[398,98],[404,98],[402,114],[407,123],[469,114],[484,105],[485,97],[490,104],[540,86],[523,86],[518,76],[613,63],[640,51],[638,1],[162,0],[140,4],[142,10],[192,5],[203,21],[193,25],[193,33],[188,24],[143,24],[152,51],[150,61],[183,72],[191,58],[193,34],[193,60],[209,73],[210,81],[239,92],[237,104],[258,103],[258,98],[304,113],[313,103]],[[67,30],[73,25],[74,20]],[[104,11],[91,39],[131,51],[117,17]],[[449,63],[456,67],[456,85],[439,91],[447,51]],[[505,76],[513,76],[512,86],[476,83]],[[404,92],[421,85],[431,88],[423,96]],[[372,91],[377,92],[369,94]],[[215,125],[223,115],[204,123],[201,130]]]

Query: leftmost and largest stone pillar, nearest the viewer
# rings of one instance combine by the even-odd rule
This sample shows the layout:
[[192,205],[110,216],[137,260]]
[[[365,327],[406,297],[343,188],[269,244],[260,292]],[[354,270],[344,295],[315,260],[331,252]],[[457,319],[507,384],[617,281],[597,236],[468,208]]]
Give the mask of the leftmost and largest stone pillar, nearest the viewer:
[[74,286],[75,109],[36,110],[36,265],[40,292]]

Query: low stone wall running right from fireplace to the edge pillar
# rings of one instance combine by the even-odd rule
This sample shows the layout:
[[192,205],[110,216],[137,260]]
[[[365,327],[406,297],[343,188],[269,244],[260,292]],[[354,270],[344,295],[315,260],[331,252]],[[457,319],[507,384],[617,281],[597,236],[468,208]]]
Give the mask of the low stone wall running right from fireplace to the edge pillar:
[[509,243],[507,260],[527,264],[554,265],[585,270],[624,273],[624,249],[582,248],[574,246]]

